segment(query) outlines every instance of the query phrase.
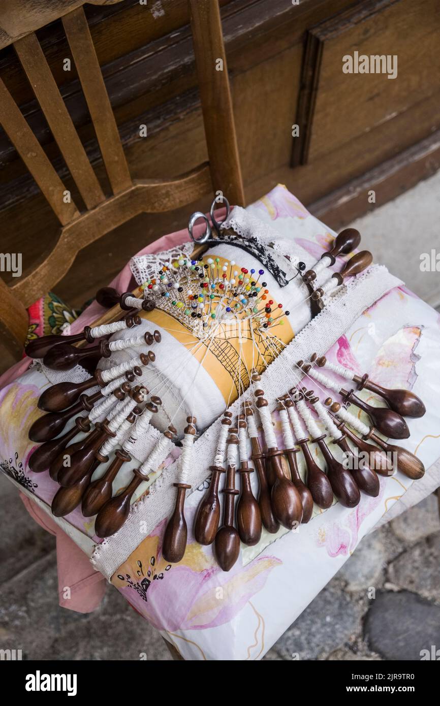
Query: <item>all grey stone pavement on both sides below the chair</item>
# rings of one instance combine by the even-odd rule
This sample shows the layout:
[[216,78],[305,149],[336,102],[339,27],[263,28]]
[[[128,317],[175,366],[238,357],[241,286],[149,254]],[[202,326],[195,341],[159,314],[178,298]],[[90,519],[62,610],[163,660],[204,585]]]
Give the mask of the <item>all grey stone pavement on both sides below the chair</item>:
[[[172,659],[162,638],[107,588],[93,614],[57,602],[52,535],[0,477],[0,649],[23,659]],[[440,522],[436,496],[365,537],[264,659],[420,659],[440,647]],[[369,598],[374,589],[374,598]]]

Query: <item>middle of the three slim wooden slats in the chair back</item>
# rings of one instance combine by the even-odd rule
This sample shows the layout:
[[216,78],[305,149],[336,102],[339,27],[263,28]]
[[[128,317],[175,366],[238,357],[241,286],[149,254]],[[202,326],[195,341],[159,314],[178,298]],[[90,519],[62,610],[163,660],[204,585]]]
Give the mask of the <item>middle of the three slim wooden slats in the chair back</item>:
[[105,201],[104,193],[85,154],[37,37],[32,32],[18,40],[14,47],[85,205],[87,208],[95,208]]

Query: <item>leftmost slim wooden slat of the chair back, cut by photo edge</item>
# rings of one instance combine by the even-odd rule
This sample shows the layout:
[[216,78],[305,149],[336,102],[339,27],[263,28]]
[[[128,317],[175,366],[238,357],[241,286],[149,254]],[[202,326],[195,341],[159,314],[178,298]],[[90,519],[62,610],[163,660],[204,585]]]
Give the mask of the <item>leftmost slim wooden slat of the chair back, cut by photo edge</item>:
[[66,225],[79,213],[73,201],[64,197],[66,191],[52,164],[47,159],[34,133],[25,121],[18,105],[0,78],[0,124],[28,167],[61,225]]

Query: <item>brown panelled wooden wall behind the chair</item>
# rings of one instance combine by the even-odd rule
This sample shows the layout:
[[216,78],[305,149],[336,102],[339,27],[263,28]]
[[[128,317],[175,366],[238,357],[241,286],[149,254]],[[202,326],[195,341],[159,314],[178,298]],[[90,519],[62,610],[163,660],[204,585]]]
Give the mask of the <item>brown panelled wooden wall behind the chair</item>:
[[[440,166],[437,0],[220,0],[247,203],[278,182],[338,228]],[[186,0],[85,6],[119,132],[135,178],[182,173],[206,159]],[[60,22],[37,36],[66,106],[105,184],[100,152]],[[1,46],[1,31],[0,31]],[[398,78],[344,74],[343,56],[397,54]],[[0,74],[66,179],[13,47]],[[299,138],[292,125],[299,124]],[[148,136],[139,136],[145,124]],[[295,141],[296,140],[296,141]],[[376,190],[376,204],[367,200]],[[206,210],[210,198],[195,203]],[[57,293],[74,305],[112,279],[131,254],[185,227],[191,208],[144,215],[78,256]],[[30,268],[57,223],[0,132],[1,248]],[[2,273],[7,281],[8,273]]]

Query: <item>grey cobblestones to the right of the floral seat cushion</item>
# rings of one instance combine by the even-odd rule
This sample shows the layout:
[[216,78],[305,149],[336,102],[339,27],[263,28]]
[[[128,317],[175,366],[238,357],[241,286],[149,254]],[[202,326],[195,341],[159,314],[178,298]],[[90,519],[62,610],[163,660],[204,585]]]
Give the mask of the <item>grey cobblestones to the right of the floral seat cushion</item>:
[[439,572],[431,495],[364,537],[265,659],[418,660],[440,648]]

